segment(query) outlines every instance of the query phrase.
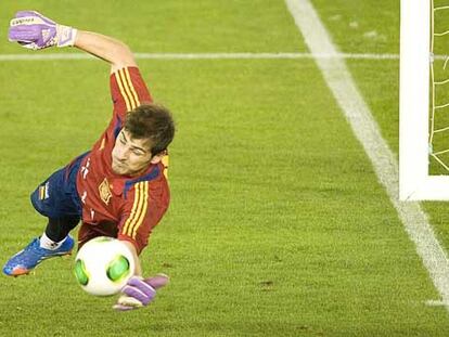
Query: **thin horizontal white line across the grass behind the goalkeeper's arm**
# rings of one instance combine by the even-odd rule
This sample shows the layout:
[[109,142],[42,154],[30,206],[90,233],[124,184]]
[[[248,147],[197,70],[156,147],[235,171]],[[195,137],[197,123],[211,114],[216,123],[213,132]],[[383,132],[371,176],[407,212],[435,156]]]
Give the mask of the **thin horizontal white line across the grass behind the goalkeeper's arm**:
[[[140,60],[288,60],[288,59],[349,59],[349,60],[399,60],[398,54],[357,53],[134,53]],[[86,53],[0,54],[0,62],[94,60]]]

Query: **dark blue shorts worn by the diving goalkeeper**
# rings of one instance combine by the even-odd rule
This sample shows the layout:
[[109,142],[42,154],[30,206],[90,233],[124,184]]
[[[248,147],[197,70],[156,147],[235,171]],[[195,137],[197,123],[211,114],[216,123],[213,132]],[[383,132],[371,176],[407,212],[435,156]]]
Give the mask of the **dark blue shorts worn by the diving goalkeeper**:
[[82,207],[76,191],[76,176],[87,154],[55,171],[31,193],[31,204],[39,213],[52,219],[81,218]]

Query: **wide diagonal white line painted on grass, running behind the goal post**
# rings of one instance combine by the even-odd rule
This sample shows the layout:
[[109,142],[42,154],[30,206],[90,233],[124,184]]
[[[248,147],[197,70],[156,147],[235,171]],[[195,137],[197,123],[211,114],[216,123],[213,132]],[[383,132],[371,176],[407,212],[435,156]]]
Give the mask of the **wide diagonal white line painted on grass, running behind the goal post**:
[[[312,54],[338,54],[309,0],[285,0],[297,27]],[[380,182],[396,208],[403,226],[423,260],[432,281],[449,310],[449,263],[418,202],[399,202],[398,164],[382,138],[370,108],[359,93],[346,64],[341,59],[317,59],[322,75],[370,157]]]

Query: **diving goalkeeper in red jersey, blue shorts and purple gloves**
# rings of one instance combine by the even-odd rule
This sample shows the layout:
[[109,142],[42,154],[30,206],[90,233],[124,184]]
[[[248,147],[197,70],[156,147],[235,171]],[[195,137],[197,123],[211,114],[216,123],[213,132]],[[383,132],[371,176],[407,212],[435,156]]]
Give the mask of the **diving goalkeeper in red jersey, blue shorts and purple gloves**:
[[138,261],[136,275],[114,308],[149,304],[157,288],[168,283],[163,274],[142,277],[138,257],[169,205],[167,147],[175,135],[170,112],[153,103],[132,52],[112,37],[21,11],[11,21],[9,40],[30,50],[75,47],[108,62],[113,114],[90,151],[53,172],[31,193],[31,204],[47,218],[47,226],[8,260],[3,273],[28,274],[42,260],[69,255],[75,244],[69,232],[81,222],[78,248],[97,236],[116,237]]

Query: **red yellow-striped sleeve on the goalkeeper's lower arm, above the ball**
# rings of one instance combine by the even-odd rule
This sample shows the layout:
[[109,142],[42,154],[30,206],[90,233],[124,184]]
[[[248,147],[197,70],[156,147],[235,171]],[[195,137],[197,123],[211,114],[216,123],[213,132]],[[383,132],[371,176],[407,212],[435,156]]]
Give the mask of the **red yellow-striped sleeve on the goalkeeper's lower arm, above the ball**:
[[169,190],[165,179],[156,183],[136,183],[127,195],[117,238],[131,242],[140,254],[147,245],[153,228],[166,212],[168,204]]

